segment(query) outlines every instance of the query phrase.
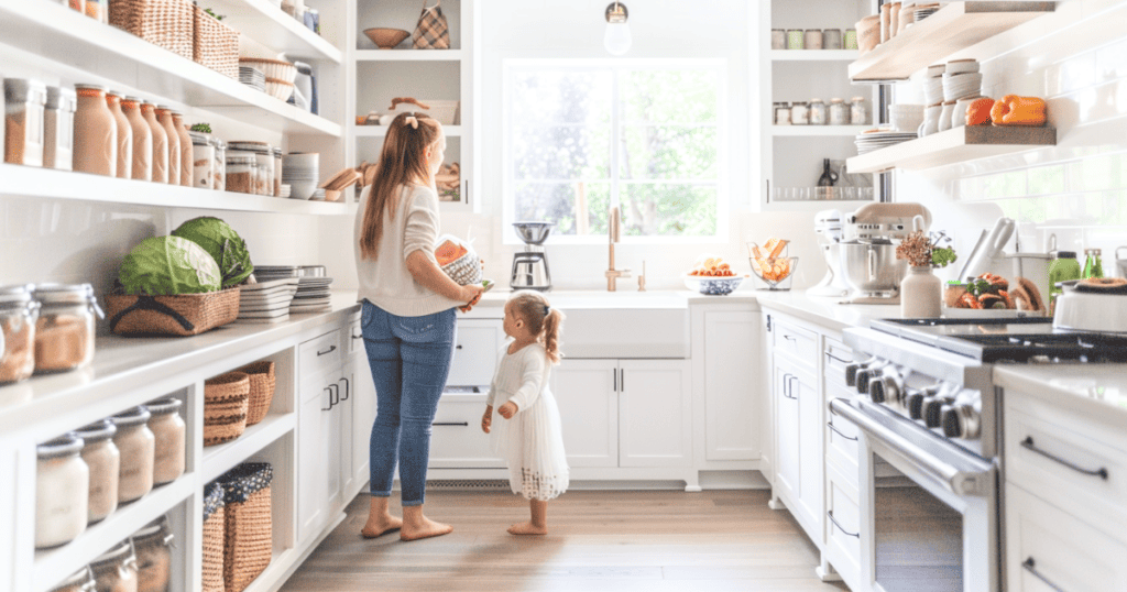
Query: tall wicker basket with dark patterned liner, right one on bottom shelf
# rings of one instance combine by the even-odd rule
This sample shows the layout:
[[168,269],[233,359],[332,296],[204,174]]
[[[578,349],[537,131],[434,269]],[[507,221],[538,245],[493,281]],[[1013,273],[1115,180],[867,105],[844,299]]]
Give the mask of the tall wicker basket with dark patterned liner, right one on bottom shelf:
[[269,463],[245,462],[227,471],[223,484],[225,531],[223,583],[227,592],[242,592],[270,564],[274,538],[270,533]]

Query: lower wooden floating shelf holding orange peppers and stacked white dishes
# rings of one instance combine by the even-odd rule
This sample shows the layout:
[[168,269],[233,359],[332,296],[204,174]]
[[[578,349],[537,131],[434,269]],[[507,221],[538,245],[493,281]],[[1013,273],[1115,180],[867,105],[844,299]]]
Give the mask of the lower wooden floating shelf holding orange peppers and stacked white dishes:
[[1040,145],[1056,145],[1053,127],[969,125],[875,150],[845,161],[850,173],[882,173],[894,168],[919,170]]

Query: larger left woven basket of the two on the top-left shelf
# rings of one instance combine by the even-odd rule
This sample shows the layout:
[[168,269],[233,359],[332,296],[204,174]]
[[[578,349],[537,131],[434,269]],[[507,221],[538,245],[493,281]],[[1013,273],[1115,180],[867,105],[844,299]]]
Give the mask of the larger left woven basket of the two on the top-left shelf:
[[109,0],[109,24],[192,59],[193,18],[188,0]]

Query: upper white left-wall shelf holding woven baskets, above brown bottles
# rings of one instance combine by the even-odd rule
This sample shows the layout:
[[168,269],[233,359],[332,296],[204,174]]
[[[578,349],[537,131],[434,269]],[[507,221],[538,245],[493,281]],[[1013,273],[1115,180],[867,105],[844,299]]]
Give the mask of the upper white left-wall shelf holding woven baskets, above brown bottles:
[[0,44],[27,52],[64,83],[103,83],[286,133],[341,134],[337,123],[60,3],[0,0]]

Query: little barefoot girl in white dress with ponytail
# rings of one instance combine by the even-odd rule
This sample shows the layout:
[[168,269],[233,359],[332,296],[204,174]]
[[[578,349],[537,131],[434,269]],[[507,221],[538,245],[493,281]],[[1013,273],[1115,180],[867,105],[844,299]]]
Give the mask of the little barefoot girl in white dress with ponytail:
[[513,493],[529,500],[532,520],[513,524],[512,534],[547,534],[548,501],[568,486],[567,458],[560,431],[560,412],[548,388],[552,364],[560,360],[564,313],[551,308],[540,292],[515,292],[505,303],[505,353],[497,364],[481,416],[490,433],[494,406],[500,405],[492,430],[494,450],[508,463]]

